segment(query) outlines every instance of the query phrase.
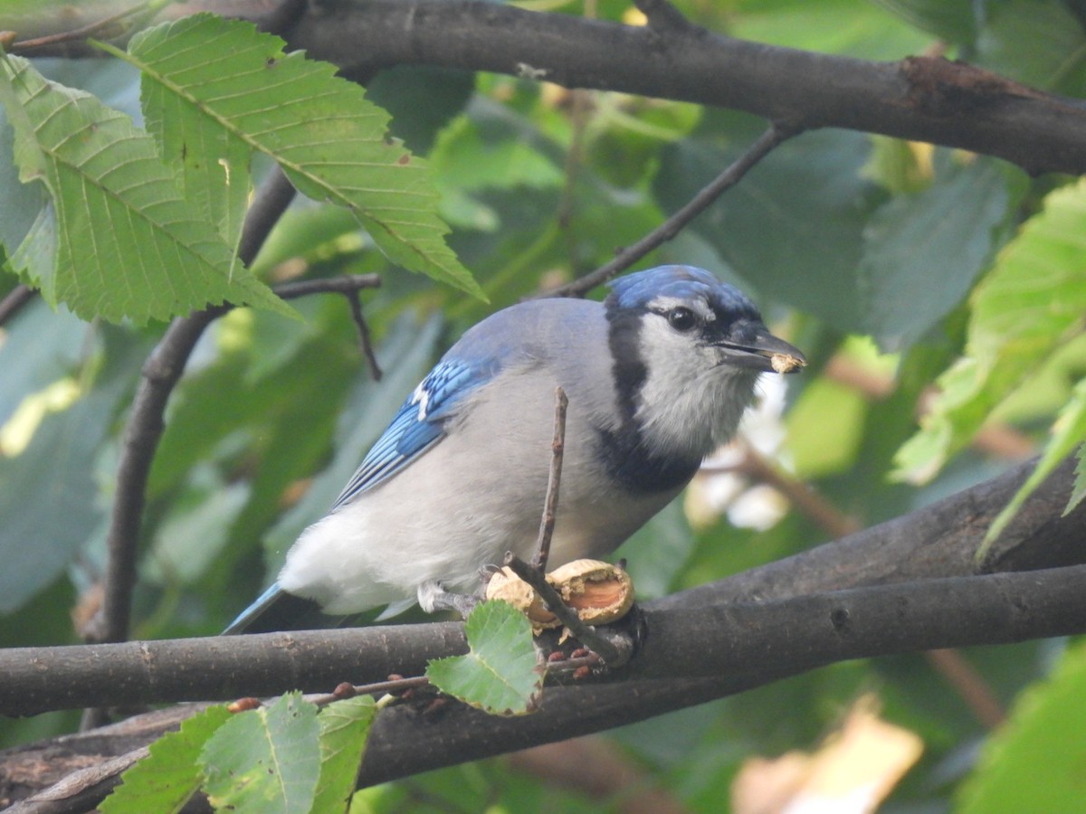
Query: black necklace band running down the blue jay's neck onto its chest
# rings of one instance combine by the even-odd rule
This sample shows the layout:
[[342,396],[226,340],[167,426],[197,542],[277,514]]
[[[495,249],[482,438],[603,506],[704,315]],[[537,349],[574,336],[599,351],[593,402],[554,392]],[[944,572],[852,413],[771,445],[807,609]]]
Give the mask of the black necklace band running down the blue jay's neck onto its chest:
[[611,377],[618,398],[618,429],[596,428],[601,458],[608,474],[633,493],[667,492],[694,476],[700,459],[689,460],[652,455],[644,444],[635,417],[637,394],[648,371],[641,356],[641,326],[646,309],[619,309],[607,303]]

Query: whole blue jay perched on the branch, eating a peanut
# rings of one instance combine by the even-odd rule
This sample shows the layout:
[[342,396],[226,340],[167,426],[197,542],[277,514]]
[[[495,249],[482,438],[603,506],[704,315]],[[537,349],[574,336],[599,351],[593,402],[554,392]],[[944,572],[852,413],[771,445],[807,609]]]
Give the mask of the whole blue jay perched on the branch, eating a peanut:
[[569,407],[551,564],[606,555],[732,437],[761,372],[805,364],[737,289],[691,266],[628,275],[603,303],[505,308],[412,392],[226,633],[286,629],[314,608],[460,609],[450,592],[473,590],[483,567],[530,558],[557,385]]

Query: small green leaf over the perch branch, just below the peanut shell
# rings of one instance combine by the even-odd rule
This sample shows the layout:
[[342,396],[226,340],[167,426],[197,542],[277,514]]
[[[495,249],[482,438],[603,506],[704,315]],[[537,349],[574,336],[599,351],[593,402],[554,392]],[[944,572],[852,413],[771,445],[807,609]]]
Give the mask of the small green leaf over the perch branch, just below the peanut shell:
[[464,624],[470,652],[431,661],[435,687],[493,715],[534,711],[543,688],[532,626],[508,602],[479,605]]

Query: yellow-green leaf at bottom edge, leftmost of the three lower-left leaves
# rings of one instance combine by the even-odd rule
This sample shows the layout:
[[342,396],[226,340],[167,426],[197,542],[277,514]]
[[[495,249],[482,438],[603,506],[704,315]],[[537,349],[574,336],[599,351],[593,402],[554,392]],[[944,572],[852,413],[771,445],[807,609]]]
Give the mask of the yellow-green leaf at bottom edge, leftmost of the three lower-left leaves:
[[99,806],[102,814],[181,811],[203,779],[200,750],[230,717],[226,707],[209,707],[154,741],[150,754],[121,775],[122,785]]

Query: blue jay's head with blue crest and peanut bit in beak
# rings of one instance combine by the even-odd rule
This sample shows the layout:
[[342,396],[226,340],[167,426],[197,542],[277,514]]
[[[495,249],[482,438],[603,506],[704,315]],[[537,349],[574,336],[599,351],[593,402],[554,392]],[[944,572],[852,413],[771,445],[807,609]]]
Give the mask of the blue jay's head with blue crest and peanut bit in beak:
[[807,364],[738,289],[705,269],[628,275],[604,305],[623,418],[664,454],[707,455],[735,432],[760,373]]

